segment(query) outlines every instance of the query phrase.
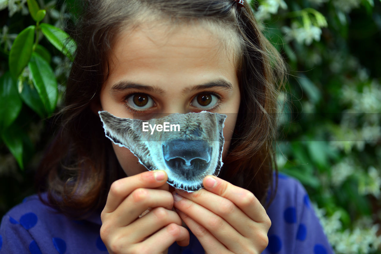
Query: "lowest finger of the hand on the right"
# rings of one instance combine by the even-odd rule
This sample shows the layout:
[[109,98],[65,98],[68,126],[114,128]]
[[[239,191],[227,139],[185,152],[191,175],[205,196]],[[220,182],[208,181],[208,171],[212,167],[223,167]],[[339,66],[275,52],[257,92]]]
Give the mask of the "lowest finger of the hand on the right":
[[[175,209],[192,233],[201,243],[205,253],[226,253],[228,250],[205,227],[197,223],[184,212]],[[230,252],[230,251],[229,251]]]

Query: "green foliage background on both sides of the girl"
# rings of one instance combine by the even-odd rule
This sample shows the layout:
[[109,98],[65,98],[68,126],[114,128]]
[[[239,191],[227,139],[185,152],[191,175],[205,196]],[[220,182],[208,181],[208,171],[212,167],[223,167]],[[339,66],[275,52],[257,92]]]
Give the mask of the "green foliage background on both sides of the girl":
[[[245,1],[288,65],[277,163],[336,253],[381,253],[381,1]],[[0,216],[34,193],[75,44],[74,2],[0,0]]]

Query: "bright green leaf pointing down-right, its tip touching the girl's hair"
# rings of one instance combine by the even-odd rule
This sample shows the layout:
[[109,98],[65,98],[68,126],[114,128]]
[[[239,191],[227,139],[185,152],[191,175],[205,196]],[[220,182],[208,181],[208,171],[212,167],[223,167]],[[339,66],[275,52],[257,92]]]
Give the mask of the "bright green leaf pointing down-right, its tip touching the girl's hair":
[[62,54],[66,55],[70,61],[74,61],[73,54],[75,51],[75,43],[70,39],[69,35],[51,24],[40,24],[41,31],[54,47]]

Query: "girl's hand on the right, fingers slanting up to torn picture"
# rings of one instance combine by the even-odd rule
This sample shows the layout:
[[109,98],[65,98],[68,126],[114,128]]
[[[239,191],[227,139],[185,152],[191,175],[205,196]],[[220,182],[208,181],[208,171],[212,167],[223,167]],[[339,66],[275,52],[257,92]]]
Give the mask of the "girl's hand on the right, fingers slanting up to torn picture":
[[205,253],[261,253],[271,221],[253,193],[215,176],[205,177],[203,185],[173,196],[176,211]]

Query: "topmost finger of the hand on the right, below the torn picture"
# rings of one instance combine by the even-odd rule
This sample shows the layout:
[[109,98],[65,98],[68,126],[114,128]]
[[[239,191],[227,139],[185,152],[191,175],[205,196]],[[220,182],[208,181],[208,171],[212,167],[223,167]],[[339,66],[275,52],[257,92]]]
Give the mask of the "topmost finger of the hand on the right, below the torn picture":
[[266,210],[259,200],[248,190],[235,186],[216,176],[206,176],[203,180],[206,190],[227,198],[256,222],[268,222]]

